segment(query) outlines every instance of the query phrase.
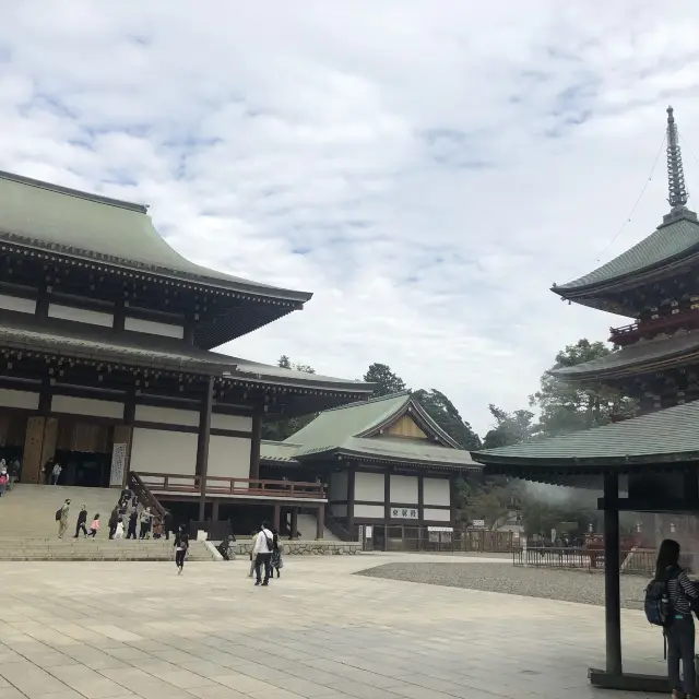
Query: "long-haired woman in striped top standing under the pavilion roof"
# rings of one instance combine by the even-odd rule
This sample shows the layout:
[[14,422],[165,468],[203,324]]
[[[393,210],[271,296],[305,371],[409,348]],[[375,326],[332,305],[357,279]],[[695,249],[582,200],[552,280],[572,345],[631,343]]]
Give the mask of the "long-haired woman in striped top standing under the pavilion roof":
[[699,592],[679,567],[679,544],[672,538],[660,545],[653,583],[664,583],[670,603],[663,632],[667,640],[667,676],[673,699],[691,699],[696,696],[695,620],[691,612],[699,602]]

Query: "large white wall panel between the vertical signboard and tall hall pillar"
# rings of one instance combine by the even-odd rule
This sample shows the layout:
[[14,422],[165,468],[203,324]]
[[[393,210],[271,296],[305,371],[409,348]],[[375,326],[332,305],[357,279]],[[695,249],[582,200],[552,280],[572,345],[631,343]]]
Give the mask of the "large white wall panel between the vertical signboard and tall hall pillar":
[[197,435],[135,427],[131,447],[131,471],[194,475]]

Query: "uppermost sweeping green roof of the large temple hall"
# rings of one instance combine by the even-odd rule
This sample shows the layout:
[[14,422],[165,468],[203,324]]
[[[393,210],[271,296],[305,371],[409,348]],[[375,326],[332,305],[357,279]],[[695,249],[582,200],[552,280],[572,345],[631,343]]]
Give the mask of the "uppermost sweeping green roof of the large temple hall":
[[265,298],[312,296],[190,262],[157,233],[147,206],[1,170],[0,240]]

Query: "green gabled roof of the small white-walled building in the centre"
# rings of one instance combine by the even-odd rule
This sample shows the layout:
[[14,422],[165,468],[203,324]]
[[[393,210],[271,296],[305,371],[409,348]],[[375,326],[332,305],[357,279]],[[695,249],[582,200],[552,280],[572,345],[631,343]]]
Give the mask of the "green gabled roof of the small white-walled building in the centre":
[[[410,414],[427,439],[387,436],[384,430]],[[283,442],[262,442],[260,458],[298,465],[319,460],[356,460],[435,469],[479,470],[408,391],[323,411]]]

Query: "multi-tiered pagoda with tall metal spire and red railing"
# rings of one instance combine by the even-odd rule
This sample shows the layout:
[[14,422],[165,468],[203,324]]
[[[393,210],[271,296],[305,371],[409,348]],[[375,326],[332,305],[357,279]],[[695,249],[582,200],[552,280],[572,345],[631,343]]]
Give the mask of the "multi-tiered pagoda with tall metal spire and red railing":
[[611,329],[617,352],[550,374],[637,398],[640,414],[699,398],[699,221],[687,209],[672,107],[666,150],[671,210],[661,225],[601,268],[552,288],[568,301],[635,319]]

